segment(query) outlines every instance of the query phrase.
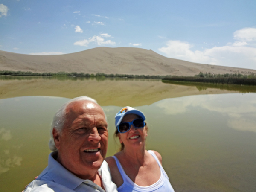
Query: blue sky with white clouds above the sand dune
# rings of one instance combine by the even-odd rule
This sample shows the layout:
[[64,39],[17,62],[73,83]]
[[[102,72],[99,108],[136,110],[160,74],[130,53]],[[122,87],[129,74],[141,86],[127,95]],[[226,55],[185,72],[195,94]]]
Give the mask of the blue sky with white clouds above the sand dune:
[[256,70],[256,0],[0,0],[0,50],[138,47]]

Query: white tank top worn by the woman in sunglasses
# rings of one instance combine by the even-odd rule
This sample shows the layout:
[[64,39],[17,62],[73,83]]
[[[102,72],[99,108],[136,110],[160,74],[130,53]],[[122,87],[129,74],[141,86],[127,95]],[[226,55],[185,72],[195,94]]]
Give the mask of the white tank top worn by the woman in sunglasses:
[[169,178],[166,174],[166,172],[163,170],[163,167],[161,163],[159,162],[156,154],[154,154],[153,151],[148,151],[157,161],[160,170],[161,170],[161,176],[160,179],[150,185],[150,186],[139,186],[135,184],[129,177],[126,175],[124,169],[122,168],[121,163],[116,158],[116,156],[113,156],[113,158],[116,160],[116,165],[119,169],[120,174],[122,175],[122,179],[124,183],[117,188],[118,192],[174,192],[172,185],[169,181]]

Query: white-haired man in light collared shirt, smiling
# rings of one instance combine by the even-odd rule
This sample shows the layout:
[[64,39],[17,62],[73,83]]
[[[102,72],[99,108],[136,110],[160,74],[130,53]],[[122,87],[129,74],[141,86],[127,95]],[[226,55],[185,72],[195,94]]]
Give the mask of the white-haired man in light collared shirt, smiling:
[[82,96],[65,103],[51,128],[48,166],[25,192],[117,192],[108,163],[108,124],[96,100]]

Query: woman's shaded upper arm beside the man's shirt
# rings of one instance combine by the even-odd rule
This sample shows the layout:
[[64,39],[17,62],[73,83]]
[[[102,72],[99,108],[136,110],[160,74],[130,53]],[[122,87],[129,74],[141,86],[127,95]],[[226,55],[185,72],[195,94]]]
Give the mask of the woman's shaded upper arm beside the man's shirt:
[[108,163],[112,181],[116,184],[117,187],[121,186],[124,183],[124,181],[116,165],[116,160],[113,157],[107,157],[105,158],[105,161],[107,161]]

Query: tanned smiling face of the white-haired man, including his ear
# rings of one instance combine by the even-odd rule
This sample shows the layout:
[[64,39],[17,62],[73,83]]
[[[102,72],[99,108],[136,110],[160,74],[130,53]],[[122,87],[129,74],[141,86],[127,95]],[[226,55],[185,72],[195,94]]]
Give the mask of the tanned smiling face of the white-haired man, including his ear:
[[70,103],[66,114],[61,134],[53,131],[58,161],[78,177],[87,178],[106,156],[108,124],[102,108],[90,101]]

